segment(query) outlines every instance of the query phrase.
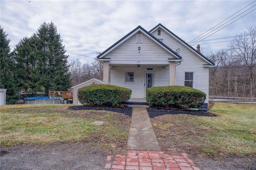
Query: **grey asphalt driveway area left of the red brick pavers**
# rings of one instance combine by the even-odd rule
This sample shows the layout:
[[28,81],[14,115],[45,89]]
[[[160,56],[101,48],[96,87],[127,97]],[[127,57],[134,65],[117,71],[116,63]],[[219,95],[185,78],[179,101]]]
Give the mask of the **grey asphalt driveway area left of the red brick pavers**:
[[104,169],[106,154],[84,143],[1,146],[1,169]]

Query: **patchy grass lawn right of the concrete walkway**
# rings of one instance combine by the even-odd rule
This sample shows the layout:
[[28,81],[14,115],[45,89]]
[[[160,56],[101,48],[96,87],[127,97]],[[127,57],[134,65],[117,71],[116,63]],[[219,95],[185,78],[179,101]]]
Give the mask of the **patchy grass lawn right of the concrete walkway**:
[[256,154],[256,105],[215,103],[216,117],[163,115],[152,118],[162,148],[188,153]]

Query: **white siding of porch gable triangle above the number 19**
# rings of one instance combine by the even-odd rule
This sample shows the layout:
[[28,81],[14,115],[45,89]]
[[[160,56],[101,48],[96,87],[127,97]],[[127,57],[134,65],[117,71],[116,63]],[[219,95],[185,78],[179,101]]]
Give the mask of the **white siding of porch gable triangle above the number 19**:
[[[168,58],[175,58],[145,35],[143,43],[136,43],[136,36],[129,38],[105,57],[111,58],[111,61],[168,61]],[[138,47],[141,47],[140,53]]]

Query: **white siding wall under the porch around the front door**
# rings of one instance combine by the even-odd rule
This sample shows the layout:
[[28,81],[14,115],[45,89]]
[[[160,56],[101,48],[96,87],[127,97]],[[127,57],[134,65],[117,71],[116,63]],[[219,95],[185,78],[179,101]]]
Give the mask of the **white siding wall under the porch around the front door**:
[[[168,86],[169,70],[163,66],[113,66],[111,69],[111,85],[121,86],[132,90],[131,98],[143,98],[144,70],[153,68],[156,71],[156,86]],[[124,83],[124,73],[127,70],[134,72],[134,83]],[[151,70],[148,70],[151,71]]]

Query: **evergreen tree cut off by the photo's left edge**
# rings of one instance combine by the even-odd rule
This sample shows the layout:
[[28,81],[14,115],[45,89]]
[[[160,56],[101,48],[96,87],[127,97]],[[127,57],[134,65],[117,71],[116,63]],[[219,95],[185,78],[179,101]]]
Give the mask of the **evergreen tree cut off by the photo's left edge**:
[[10,53],[10,39],[4,28],[0,26],[0,88],[6,90],[6,104],[13,104],[19,99],[17,74],[12,53]]

